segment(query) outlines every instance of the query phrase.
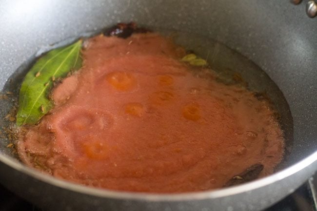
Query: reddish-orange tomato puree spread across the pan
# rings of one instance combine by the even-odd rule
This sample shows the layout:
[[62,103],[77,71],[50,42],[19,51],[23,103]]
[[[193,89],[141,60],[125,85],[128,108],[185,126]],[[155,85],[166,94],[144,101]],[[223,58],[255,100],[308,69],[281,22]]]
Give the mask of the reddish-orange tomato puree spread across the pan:
[[270,104],[180,61],[184,52],[156,33],[90,38],[83,67],[53,90],[55,108],[20,134],[21,160],[133,192],[220,188],[255,163],[272,173],[283,135]]

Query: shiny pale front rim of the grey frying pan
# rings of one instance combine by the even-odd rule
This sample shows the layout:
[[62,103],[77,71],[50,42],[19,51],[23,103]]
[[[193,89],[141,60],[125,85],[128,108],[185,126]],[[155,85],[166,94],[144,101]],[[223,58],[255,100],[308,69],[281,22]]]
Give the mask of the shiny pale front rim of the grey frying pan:
[[235,194],[239,194],[243,192],[249,192],[249,191],[251,192],[255,189],[273,184],[281,179],[284,179],[293,174],[296,174],[303,169],[308,169],[314,163],[317,164],[317,151],[284,170],[281,170],[277,173],[273,173],[269,176],[263,177],[261,179],[257,179],[252,182],[248,182],[248,183],[241,184],[234,187],[214,189],[214,190],[201,191],[201,192],[186,192],[186,193],[141,193],[141,192],[123,192],[123,191],[114,191],[114,190],[107,190],[107,189],[98,189],[98,188],[87,187],[80,184],[68,182],[66,180],[61,180],[51,175],[41,173],[3,154],[0,154],[0,162],[8,165],[9,167],[17,171],[20,171],[21,173],[25,173],[28,176],[31,176],[37,180],[40,180],[41,182],[53,185],[61,189],[67,189],[73,192],[79,192],[82,194],[97,196],[101,198],[130,199],[130,200],[143,200],[143,201],[145,200],[149,202],[161,202],[161,201],[216,199],[216,198],[226,197],[226,196],[235,195]]

